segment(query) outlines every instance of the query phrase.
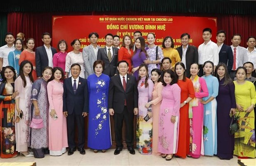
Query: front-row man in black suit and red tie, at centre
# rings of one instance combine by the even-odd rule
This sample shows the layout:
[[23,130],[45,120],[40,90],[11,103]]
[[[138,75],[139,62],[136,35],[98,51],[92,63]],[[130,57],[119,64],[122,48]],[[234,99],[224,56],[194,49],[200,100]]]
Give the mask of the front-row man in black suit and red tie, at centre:
[[116,150],[119,154],[123,149],[122,127],[126,124],[126,144],[130,154],[133,149],[133,117],[138,114],[138,89],[136,78],[128,75],[128,63],[118,62],[119,75],[111,77],[109,84],[109,114],[114,115]]

